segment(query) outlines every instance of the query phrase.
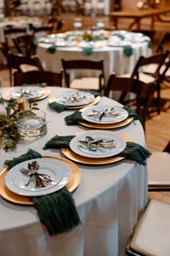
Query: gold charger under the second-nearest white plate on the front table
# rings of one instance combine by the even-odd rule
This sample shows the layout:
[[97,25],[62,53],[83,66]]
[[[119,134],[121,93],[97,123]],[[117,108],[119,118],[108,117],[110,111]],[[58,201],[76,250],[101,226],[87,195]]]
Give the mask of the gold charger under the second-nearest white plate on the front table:
[[[100,130],[100,131],[105,132],[104,130]],[[86,134],[86,132],[95,132],[95,130],[78,132],[75,135]],[[96,130],[96,132],[99,132],[99,130]],[[122,137],[125,140],[125,142],[130,141],[128,139],[128,137],[126,137],[125,135],[121,135],[118,132],[111,132],[111,131],[108,131],[108,132],[112,133],[112,134],[114,133],[115,135]],[[108,158],[86,158],[84,156],[77,155],[76,153],[73,153],[73,151],[70,150],[69,148],[61,148],[61,152],[63,153],[63,155],[65,155],[67,158],[71,159],[72,161],[76,161],[78,163],[91,164],[91,165],[102,165],[102,164],[107,164],[107,163],[115,163],[115,162],[120,161],[125,158],[125,157],[120,157],[120,156],[116,156],[116,155],[112,156],[112,157],[108,157]]]

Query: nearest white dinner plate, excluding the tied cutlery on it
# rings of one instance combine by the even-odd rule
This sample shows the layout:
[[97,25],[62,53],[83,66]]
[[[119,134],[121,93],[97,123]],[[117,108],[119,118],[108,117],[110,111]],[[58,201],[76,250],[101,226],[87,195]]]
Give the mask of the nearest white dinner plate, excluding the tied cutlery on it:
[[[28,163],[32,163],[32,161],[37,161],[40,164],[40,169],[38,170],[39,174],[47,174],[53,179],[53,182],[49,182],[47,187],[37,188],[35,186],[35,177],[32,178],[29,185],[25,186],[25,184],[29,182],[30,176],[25,176],[19,170],[21,168],[28,170],[27,165]],[[71,179],[71,174],[71,168],[62,161],[37,158],[24,161],[11,168],[5,176],[5,184],[9,190],[18,195],[30,197],[47,195],[65,187]]]

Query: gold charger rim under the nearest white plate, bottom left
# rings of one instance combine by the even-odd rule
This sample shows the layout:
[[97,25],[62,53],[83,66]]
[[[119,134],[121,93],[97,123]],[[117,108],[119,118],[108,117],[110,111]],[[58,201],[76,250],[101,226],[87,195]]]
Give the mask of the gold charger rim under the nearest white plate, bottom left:
[[[71,168],[72,176],[70,182],[66,185],[66,188],[69,192],[73,192],[76,187],[78,187],[80,180],[81,180],[81,172],[79,170],[79,167],[76,166],[75,163],[72,163],[68,159],[59,158],[57,156],[50,156],[50,155],[44,155],[43,158],[51,158],[51,159],[57,159],[59,161],[62,161],[63,163],[68,164],[68,166]],[[6,188],[5,185],[5,176],[8,171],[8,168],[4,168],[4,170],[0,174],[0,195],[4,199],[14,202],[21,205],[33,205],[33,202],[30,201],[28,197],[24,197],[22,195],[17,195],[13,192],[11,192],[9,189]]]

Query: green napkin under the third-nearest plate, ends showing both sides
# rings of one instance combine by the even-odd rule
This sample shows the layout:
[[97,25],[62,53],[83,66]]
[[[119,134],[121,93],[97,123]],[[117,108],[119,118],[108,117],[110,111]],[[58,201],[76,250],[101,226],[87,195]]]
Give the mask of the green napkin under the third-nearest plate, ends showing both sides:
[[[142,119],[133,109],[130,109],[127,106],[124,106],[123,108],[128,111],[128,117],[133,117],[134,120],[139,120],[141,124],[143,124]],[[88,122],[81,116],[80,111],[75,111],[73,114],[66,116],[64,120],[67,125],[75,125],[78,121]]]

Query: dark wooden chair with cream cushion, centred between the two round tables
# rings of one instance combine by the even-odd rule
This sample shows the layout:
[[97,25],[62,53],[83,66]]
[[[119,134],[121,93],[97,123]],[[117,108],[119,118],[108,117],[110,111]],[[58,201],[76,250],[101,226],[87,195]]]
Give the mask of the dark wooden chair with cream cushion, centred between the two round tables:
[[[97,90],[102,93],[104,90],[104,62],[89,60],[61,60],[63,64],[63,74],[68,88]],[[69,71],[96,71],[98,76],[80,77],[71,81],[71,73]]]

